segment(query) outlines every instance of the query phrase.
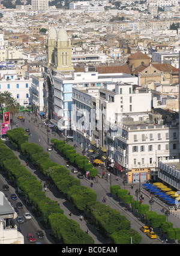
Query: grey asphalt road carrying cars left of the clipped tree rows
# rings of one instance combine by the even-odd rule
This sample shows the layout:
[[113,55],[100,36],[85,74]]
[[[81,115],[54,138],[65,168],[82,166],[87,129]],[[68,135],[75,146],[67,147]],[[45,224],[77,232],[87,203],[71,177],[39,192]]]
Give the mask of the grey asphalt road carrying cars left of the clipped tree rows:
[[[13,207],[16,207],[16,204],[17,202],[22,202],[23,204],[23,209],[18,209],[19,210],[19,214],[18,216],[22,216],[23,219],[25,220],[25,217],[23,216],[24,213],[27,213],[29,212],[31,214],[31,217],[32,219],[31,220],[25,220],[24,223],[18,223],[17,222],[17,219],[14,219],[14,223],[17,225],[18,228],[20,228],[20,232],[23,234],[24,236],[24,243],[25,244],[28,244],[29,241],[27,240],[26,236],[28,233],[32,233],[34,234],[35,236],[35,233],[38,231],[38,230],[41,230],[40,226],[37,225],[37,222],[35,221],[35,218],[33,216],[33,214],[31,213],[31,211],[29,211],[27,208],[26,208],[26,205],[23,203],[23,201],[19,198],[18,194],[16,194],[16,191],[14,190],[14,188],[9,184],[7,183],[7,181],[5,180],[5,178],[2,176],[3,175],[3,172],[1,172],[1,175],[0,175],[0,190],[6,194],[8,196],[8,201],[10,201],[12,204],[13,204]],[[9,190],[4,190],[3,189],[3,185],[4,184],[7,184],[9,186]],[[11,199],[11,194],[12,193],[15,193],[16,196],[17,196],[17,200],[12,200]],[[17,208],[17,207],[16,207]],[[46,234],[44,231],[43,231],[44,234]],[[40,239],[37,239],[37,242],[39,242]],[[49,240],[47,240],[47,237],[45,236],[44,239],[41,239],[40,241],[41,243],[44,243],[44,244],[47,244],[47,243],[50,243]]]

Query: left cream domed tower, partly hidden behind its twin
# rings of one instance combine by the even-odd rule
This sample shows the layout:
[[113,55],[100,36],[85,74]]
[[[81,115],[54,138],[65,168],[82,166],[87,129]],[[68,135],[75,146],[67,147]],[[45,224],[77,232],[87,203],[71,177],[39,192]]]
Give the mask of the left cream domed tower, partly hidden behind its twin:
[[58,34],[55,27],[51,27],[46,39],[46,63],[55,63],[54,48],[56,46]]

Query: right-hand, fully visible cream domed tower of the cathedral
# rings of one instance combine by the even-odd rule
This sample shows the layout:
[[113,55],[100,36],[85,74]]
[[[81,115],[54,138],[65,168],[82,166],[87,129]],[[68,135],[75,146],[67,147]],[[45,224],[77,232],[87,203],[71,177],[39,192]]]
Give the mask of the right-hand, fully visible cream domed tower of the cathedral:
[[73,70],[71,63],[71,40],[64,28],[58,31],[55,47],[55,66],[57,70],[69,72]]

